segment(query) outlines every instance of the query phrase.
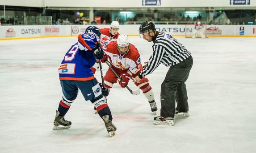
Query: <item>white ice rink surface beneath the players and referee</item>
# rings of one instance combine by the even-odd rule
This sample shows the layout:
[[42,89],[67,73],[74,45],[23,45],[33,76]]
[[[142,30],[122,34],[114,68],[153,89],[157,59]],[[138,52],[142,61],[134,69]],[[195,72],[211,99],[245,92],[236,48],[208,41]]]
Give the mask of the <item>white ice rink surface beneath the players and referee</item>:
[[[186,82],[190,117],[153,125],[142,92],[115,84],[107,97],[114,137],[81,93],[65,116],[71,128],[52,130],[62,97],[57,70],[76,37],[0,41],[0,153],[255,153],[256,38],[176,39],[194,60]],[[153,43],[136,36],[130,42],[147,61]],[[160,64],[148,75],[156,116],[167,70]],[[101,81],[99,70],[96,77]],[[132,81],[128,86],[136,89]]]

